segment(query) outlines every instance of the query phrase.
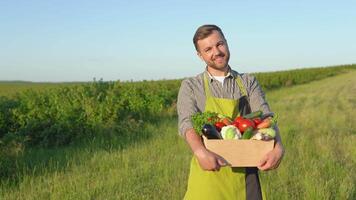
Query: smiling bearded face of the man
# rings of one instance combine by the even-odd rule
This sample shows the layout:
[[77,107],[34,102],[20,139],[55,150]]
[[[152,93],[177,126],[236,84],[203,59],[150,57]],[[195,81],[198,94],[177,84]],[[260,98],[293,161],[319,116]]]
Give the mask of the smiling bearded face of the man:
[[230,52],[225,38],[213,31],[208,37],[198,40],[198,56],[205,61],[208,67],[216,70],[224,69],[229,62]]

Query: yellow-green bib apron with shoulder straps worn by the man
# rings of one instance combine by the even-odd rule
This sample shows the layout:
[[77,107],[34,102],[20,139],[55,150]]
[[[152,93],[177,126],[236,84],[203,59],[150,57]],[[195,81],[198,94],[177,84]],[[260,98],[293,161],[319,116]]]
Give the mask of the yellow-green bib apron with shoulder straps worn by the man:
[[[242,96],[246,98],[247,92],[242,84],[240,76],[236,78],[236,82],[240,88]],[[204,75],[204,89],[206,96],[205,111],[216,112],[231,118],[240,115],[240,100],[213,97],[209,89],[206,75]],[[248,173],[249,175],[247,175],[247,171],[251,171],[251,173]],[[190,164],[188,189],[184,199],[262,199],[257,170],[254,168],[226,166],[221,167],[219,171],[205,171],[201,169],[196,157],[193,157]]]

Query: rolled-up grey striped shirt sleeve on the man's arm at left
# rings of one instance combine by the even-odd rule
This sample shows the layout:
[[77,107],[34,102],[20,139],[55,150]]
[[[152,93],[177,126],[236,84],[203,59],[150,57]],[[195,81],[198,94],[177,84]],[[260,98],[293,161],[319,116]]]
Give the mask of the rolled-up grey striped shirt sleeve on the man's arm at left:
[[186,79],[182,81],[177,100],[178,129],[182,137],[185,137],[188,129],[193,128],[191,116],[196,112],[198,108],[194,92],[189,79]]

